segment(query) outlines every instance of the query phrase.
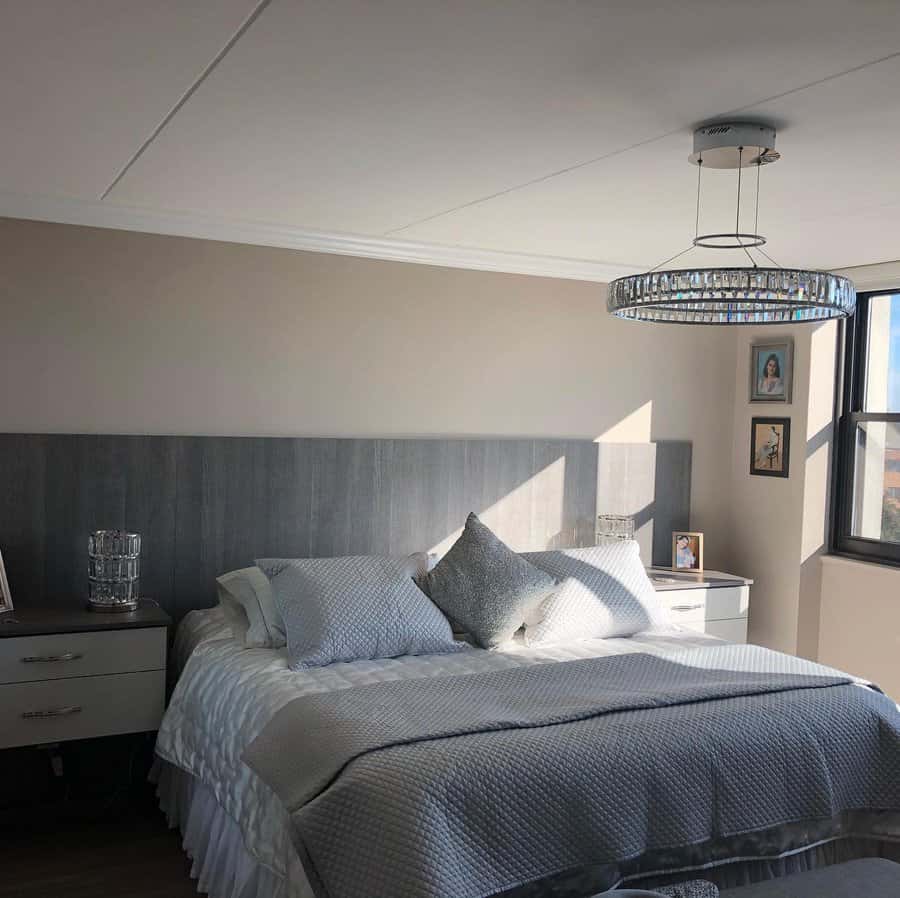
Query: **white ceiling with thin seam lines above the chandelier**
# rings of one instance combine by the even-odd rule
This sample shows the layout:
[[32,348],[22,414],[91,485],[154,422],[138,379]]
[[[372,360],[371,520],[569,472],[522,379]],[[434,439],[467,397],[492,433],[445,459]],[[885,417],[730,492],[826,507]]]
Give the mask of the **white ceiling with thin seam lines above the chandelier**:
[[0,66],[0,214],[604,279],[689,243],[730,115],[779,262],[900,257],[898,0],[29,0]]

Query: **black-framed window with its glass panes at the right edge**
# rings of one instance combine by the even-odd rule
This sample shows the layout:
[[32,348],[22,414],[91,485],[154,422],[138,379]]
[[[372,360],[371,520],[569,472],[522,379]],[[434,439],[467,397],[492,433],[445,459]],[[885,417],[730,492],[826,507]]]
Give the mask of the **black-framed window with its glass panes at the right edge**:
[[837,463],[835,550],[900,564],[900,289],[848,324]]

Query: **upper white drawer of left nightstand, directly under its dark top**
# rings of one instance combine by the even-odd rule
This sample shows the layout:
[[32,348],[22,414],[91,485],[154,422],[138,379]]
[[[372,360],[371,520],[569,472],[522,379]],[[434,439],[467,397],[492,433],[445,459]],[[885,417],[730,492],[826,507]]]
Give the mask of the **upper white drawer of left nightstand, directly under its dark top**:
[[165,666],[163,627],[0,640],[0,683],[162,670]]

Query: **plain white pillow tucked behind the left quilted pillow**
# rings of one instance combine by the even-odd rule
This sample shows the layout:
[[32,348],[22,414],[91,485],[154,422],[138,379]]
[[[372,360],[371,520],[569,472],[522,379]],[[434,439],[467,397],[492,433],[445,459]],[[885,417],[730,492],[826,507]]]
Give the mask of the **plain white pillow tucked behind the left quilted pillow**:
[[269,578],[258,568],[231,571],[216,578],[219,605],[232,635],[247,648],[280,649],[284,621],[272,596]]

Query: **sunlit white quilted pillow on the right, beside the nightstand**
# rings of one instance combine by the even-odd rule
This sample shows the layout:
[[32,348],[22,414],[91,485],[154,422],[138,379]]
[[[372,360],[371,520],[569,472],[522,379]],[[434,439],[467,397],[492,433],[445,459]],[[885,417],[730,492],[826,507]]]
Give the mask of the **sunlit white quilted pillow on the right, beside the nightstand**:
[[634,540],[526,552],[523,557],[559,582],[559,588],[526,621],[528,645],[633,636],[671,625]]

